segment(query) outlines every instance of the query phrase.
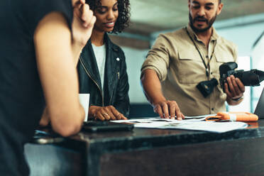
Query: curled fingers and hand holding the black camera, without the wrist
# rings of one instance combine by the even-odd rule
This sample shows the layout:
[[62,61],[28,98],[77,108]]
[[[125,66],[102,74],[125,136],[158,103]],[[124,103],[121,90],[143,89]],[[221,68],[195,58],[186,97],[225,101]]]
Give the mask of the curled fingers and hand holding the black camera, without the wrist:
[[238,99],[243,96],[245,86],[240,79],[231,75],[226,78],[227,83],[224,84],[224,89],[227,97],[230,99]]

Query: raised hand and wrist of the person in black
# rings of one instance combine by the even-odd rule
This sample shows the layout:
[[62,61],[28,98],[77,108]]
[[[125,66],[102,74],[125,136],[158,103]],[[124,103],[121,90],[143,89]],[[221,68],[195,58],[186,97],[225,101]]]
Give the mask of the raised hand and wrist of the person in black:
[[[74,3],[74,2],[73,2]],[[84,47],[91,37],[96,17],[85,4],[85,0],[75,1],[73,4],[72,38],[75,45]]]

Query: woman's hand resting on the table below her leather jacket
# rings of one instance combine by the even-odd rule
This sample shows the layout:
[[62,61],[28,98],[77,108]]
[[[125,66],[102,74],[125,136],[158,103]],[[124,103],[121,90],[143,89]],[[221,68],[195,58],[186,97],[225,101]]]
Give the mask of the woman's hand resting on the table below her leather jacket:
[[114,106],[90,106],[89,114],[100,121],[127,120]]

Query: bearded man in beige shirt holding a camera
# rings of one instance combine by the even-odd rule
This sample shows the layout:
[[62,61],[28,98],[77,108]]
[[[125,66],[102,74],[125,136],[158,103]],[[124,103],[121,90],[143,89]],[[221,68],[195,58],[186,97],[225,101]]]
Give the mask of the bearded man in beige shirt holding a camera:
[[[239,104],[245,92],[233,75],[227,77],[224,90],[219,84],[219,66],[237,57],[236,45],[212,27],[223,8],[221,0],[189,0],[188,6],[188,26],[159,35],[141,68],[145,96],[165,119],[226,111],[225,101]],[[218,84],[212,84],[212,92],[204,97],[197,85],[214,79]]]

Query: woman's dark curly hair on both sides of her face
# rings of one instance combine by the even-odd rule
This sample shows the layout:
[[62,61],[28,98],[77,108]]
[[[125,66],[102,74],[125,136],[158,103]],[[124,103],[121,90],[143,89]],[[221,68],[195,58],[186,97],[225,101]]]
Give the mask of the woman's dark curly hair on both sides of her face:
[[[85,0],[92,11],[101,6],[101,0]],[[121,33],[130,24],[130,2],[129,0],[117,0],[119,17],[116,20],[111,33]]]

